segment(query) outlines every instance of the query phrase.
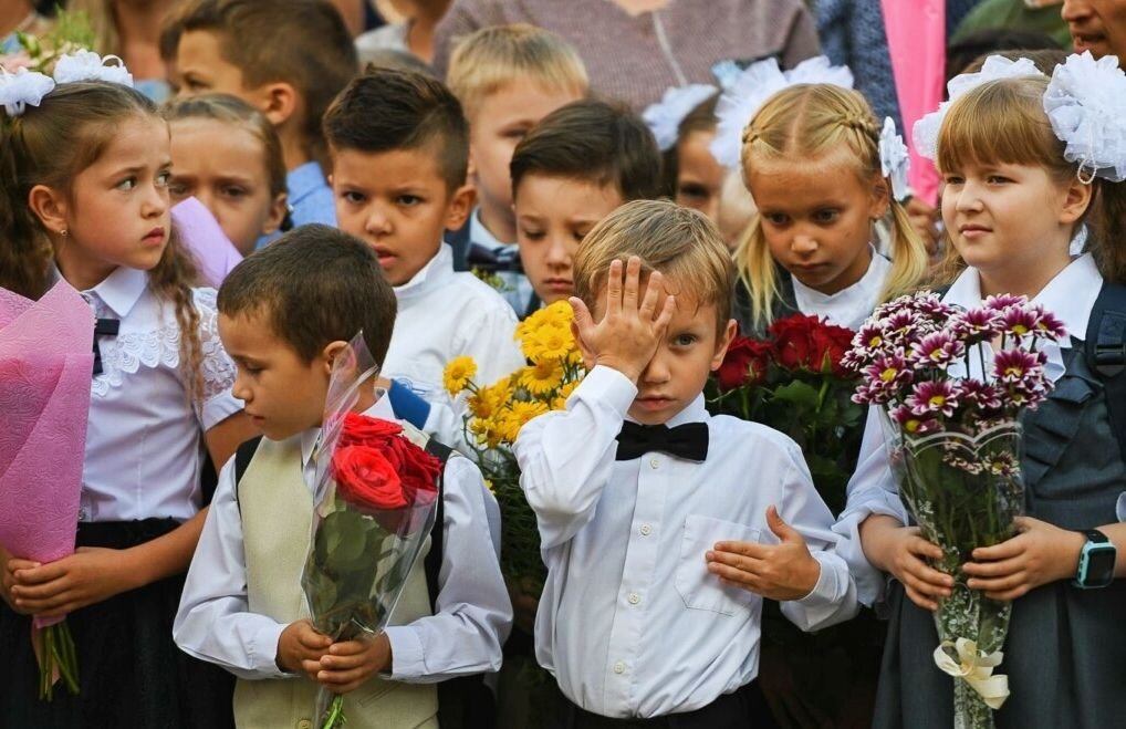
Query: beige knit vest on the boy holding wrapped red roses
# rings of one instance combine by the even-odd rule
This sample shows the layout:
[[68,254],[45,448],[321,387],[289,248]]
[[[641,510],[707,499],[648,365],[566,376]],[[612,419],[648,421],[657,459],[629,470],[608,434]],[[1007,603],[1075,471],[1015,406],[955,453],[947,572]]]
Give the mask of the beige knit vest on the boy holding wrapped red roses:
[[[242,539],[247,560],[250,612],[288,624],[309,617],[301,572],[313,518],[313,499],[302,478],[301,436],[275,442],[262,438],[239,482]],[[423,560],[427,537],[391,624],[403,625],[430,615]],[[239,729],[312,729],[318,684],[306,677],[242,681],[234,690]],[[347,694],[348,729],[415,729],[438,727],[434,685],[372,678]]]

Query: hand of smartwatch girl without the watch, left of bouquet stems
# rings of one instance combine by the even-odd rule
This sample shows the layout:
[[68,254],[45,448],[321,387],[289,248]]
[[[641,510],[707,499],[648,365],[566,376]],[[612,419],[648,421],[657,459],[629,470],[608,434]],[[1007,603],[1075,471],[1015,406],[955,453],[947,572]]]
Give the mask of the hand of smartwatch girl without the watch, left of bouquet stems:
[[874,515],[860,525],[865,555],[903,585],[912,603],[938,610],[938,598],[950,595],[954,578],[923,559],[941,559],[942,550],[920,536],[918,526],[902,526],[890,516]]

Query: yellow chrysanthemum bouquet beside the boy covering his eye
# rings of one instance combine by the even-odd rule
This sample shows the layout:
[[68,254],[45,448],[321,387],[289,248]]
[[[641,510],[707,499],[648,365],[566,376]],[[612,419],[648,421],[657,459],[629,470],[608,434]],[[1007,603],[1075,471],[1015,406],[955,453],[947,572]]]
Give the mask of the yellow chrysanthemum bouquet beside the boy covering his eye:
[[501,570],[509,587],[530,596],[543,592],[546,571],[512,444],[528,420],[562,410],[587,374],[571,334],[572,317],[571,304],[557,301],[525,319],[516,338],[528,364],[489,386],[473,381],[477,366],[472,357],[446,365],[444,384],[450,395],[466,398],[465,439],[500,505]]

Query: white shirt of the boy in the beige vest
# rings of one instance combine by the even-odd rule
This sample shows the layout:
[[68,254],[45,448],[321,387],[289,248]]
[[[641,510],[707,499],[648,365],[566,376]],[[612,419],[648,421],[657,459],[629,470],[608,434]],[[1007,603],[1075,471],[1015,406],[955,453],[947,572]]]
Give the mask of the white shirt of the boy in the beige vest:
[[[366,415],[394,419],[387,398]],[[306,430],[301,441],[310,490],[311,455],[319,434],[319,428]],[[391,678],[395,681],[432,683],[495,672],[512,624],[512,606],[485,519],[485,501],[492,495],[468,459],[452,457],[444,479],[446,532],[438,612],[385,630],[391,641]],[[249,611],[244,554],[231,459],[220,473],[188,569],[172,637],[188,655],[218,664],[241,678],[293,678],[277,666],[278,639],[286,625]]]

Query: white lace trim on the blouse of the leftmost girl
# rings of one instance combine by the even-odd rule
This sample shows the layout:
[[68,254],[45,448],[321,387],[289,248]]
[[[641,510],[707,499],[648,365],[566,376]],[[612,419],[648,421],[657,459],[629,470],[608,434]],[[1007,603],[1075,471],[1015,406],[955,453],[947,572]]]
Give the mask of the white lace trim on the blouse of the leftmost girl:
[[[218,338],[214,288],[193,290],[193,302],[199,314],[199,344],[203,353],[203,400],[230,391],[234,384],[234,363],[226,356]],[[122,386],[126,374],[136,374],[142,366],[149,368],[180,366],[180,327],[171,305],[158,302],[160,326],[149,331],[135,331],[116,337],[101,337],[101,374],[93,377],[90,392],[96,398],[106,397],[110,389]],[[169,321],[169,323],[163,323]],[[198,409],[198,407],[197,407]]]

